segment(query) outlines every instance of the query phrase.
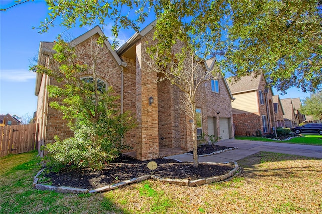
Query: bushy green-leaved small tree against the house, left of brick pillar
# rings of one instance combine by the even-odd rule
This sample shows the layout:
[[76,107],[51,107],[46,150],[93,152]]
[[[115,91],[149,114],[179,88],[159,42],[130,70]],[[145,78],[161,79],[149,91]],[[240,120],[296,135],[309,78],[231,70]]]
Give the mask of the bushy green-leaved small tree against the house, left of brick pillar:
[[95,39],[75,47],[59,39],[53,50],[50,68],[37,65],[31,69],[62,83],[47,87],[50,97],[62,99],[50,106],[64,114],[74,137],[61,140],[56,136],[47,149],[59,163],[100,168],[128,147],[123,137],[134,126],[129,112],[120,114],[119,97],[106,86],[114,72],[112,62],[106,60],[108,49]]

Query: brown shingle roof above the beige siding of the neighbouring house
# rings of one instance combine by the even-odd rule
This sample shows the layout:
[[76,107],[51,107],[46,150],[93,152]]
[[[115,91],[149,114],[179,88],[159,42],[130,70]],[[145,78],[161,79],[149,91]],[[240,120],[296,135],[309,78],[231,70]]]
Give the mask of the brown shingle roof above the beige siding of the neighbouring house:
[[251,76],[244,76],[237,82],[229,82],[227,79],[230,91],[232,94],[257,90],[262,79],[262,75],[254,78],[253,75]]

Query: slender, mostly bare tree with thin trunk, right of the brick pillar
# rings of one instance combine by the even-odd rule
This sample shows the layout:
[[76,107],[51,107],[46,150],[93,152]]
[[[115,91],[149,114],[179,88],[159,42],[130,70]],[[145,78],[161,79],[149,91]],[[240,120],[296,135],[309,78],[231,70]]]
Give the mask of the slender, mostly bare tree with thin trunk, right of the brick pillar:
[[205,61],[198,58],[189,45],[179,42],[177,45],[180,51],[175,52],[171,48],[165,48],[160,42],[157,45],[150,42],[152,45],[147,47],[143,60],[150,71],[159,74],[158,81],[170,81],[171,85],[181,91],[180,109],[190,119],[188,127],[192,133],[194,167],[198,167],[196,94],[205,81],[221,77],[220,72],[215,68],[207,70]]

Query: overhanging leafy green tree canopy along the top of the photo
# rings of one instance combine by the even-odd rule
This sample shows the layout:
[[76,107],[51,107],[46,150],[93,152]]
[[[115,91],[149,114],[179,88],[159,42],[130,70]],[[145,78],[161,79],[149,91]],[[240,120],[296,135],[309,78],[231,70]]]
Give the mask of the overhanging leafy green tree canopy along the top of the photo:
[[[24,1],[18,1],[24,2]],[[322,19],[318,0],[47,0],[49,17],[40,32],[56,24],[67,28],[112,25],[114,47],[121,28],[139,30],[157,18],[155,39],[164,51],[178,40],[201,58],[216,57],[235,79],[264,73],[278,90],[321,87]],[[158,51],[161,49],[158,48]]]

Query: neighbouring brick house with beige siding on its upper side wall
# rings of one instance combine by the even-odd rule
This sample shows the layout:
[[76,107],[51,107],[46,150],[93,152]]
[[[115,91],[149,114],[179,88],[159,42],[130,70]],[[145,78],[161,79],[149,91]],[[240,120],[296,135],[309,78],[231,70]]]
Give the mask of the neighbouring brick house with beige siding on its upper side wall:
[[[229,81],[228,81],[229,82]],[[235,135],[262,135],[272,132],[275,127],[273,92],[263,75],[241,77],[235,83],[229,83],[230,91],[235,98],[232,102],[232,113]]]

